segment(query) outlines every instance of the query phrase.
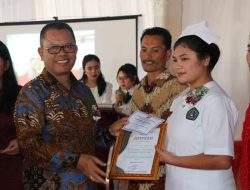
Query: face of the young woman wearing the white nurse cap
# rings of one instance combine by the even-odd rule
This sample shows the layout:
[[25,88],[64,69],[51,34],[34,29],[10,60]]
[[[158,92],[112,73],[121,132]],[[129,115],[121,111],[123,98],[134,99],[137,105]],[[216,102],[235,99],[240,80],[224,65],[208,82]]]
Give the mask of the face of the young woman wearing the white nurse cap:
[[198,59],[196,52],[181,44],[173,53],[173,69],[180,83],[198,88],[212,80],[208,71],[210,58]]

